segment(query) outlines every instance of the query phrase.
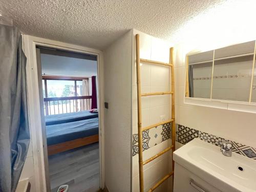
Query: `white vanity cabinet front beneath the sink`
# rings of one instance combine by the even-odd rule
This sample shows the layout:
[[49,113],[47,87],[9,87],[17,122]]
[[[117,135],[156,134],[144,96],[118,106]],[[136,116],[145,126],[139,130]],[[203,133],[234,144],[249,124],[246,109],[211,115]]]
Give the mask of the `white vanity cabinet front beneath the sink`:
[[221,192],[175,162],[174,192]]

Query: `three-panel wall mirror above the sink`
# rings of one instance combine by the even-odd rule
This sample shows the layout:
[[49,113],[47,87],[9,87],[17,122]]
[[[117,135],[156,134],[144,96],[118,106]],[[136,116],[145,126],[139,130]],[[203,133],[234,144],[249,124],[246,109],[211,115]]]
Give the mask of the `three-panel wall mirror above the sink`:
[[188,54],[185,96],[256,102],[253,59],[255,41]]

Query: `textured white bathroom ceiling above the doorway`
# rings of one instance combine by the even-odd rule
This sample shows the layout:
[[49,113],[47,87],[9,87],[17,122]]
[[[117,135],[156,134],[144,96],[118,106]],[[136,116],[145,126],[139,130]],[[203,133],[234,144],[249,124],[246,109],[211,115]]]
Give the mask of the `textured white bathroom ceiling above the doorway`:
[[170,37],[224,0],[1,0],[0,13],[25,33],[104,49],[132,28]]

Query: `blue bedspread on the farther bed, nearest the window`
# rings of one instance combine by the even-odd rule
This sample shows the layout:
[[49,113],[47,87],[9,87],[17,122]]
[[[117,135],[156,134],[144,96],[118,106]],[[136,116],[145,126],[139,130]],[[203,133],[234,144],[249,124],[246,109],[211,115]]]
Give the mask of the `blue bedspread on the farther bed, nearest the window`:
[[45,120],[46,120],[46,125],[54,125],[54,124],[92,119],[96,117],[98,117],[98,113],[90,113],[90,111],[79,111],[75,113],[47,115],[45,116]]

